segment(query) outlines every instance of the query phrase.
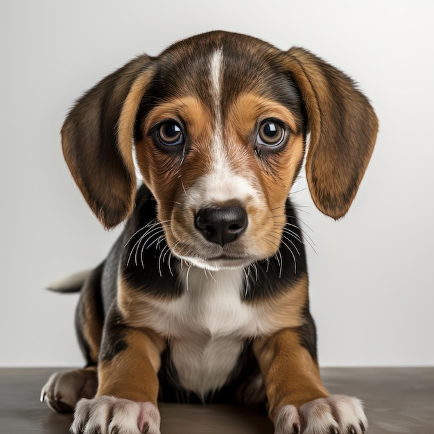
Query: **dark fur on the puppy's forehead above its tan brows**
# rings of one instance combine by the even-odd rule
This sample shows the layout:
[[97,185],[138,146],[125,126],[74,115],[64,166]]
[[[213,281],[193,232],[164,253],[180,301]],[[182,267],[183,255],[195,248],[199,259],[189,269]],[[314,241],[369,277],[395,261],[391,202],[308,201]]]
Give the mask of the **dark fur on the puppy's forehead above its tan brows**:
[[[182,49],[182,56],[177,55],[178,48]],[[287,107],[296,121],[293,133],[305,135],[306,112],[302,96],[288,71],[282,67],[282,52],[252,37],[214,32],[198,35],[188,44],[180,41],[153,58],[156,71],[137,112],[136,141],[143,138],[141,128],[148,112],[173,97],[196,96],[211,113],[214,112],[209,69],[211,56],[218,50],[223,53],[223,121],[237,96],[257,89],[265,98]]]

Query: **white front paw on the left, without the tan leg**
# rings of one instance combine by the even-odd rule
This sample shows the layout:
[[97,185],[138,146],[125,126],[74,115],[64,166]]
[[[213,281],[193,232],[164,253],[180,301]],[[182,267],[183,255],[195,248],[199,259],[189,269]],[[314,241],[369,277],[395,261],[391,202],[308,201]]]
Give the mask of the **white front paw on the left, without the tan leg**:
[[114,397],[78,401],[73,434],[160,434],[158,408],[150,402]]

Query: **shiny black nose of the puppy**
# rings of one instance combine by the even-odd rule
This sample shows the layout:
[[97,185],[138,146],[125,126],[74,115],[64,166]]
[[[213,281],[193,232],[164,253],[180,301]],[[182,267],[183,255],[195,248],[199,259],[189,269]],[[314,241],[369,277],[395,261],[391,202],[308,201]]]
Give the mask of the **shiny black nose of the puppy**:
[[203,208],[196,214],[196,227],[211,243],[221,246],[232,243],[248,225],[245,209],[242,207]]

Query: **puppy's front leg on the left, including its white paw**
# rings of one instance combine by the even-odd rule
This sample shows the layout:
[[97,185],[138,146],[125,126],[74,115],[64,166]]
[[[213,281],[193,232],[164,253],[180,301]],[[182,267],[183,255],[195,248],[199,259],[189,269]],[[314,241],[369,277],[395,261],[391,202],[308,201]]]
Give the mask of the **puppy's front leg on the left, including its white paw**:
[[76,406],[73,434],[159,434],[157,372],[165,343],[152,331],[126,326],[111,309],[98,363],[98,391]]

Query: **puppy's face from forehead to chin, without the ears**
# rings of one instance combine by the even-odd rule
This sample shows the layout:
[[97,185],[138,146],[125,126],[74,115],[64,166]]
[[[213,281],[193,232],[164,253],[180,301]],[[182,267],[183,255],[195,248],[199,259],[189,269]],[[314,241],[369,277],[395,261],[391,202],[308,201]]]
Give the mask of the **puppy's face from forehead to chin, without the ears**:
[[196,44],[159,60],[141,101],[137,160],[177,257],[205,268],[247,266],[279,248],[304,150],[301,97],[264,62],[268,47],[234,62],[248,44]]

